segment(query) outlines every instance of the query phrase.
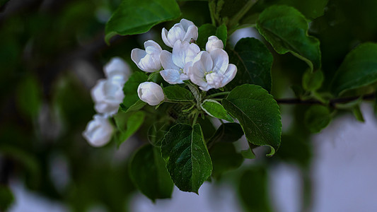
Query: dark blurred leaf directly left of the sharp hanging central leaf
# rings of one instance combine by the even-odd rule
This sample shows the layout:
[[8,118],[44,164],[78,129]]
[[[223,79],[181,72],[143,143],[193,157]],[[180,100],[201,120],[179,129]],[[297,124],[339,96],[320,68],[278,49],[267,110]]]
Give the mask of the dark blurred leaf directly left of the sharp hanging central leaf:
[[173,182],[161,158],[160,148],[151,145],[139,148],[131,158],[129,177],[140,192],[153,202],[171,197]]

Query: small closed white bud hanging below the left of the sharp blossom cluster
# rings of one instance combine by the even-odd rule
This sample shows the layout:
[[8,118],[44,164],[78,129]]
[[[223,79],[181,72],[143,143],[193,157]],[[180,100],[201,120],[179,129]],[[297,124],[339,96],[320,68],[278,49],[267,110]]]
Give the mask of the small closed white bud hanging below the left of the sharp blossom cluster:
[[149,105],[158,105],[165,98],[161,86],[153,82],[144,82],[137,88],[137,95],[143,101]]

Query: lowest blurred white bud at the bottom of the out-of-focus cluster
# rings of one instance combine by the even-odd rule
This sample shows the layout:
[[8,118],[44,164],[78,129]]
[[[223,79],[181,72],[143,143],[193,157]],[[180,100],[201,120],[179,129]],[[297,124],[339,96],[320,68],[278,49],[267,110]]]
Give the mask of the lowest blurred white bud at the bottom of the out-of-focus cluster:
[[113,131],[107,116],[95,114],[93,120],[86,125],[83,137],[91,146],[100,147],[110,141]]

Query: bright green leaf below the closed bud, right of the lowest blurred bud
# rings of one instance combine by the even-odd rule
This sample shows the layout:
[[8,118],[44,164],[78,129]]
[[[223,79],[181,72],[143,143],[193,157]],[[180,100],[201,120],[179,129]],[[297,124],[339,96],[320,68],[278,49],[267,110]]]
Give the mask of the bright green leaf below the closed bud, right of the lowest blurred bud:
[[124,141],[129,139],[143,124],[145,118],[145,112],[137,111],[132,114],[124,114],[123,112],[118,112],[115,114],[115,124],[120,130],[117,134],[116,143],[117,146],[120,146]]

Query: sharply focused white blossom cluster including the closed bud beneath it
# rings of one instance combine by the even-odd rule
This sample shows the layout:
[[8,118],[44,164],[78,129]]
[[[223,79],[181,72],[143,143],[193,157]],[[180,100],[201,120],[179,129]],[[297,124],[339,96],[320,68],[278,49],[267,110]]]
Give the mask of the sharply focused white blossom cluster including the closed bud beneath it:
[[[205,51],[195,44],[198,28],[190,20],[182,19],[170,30],[163,28],[163,42],[172,47],[172,52],[163,50],[153,40],[144,42],[145,50],[132,49],[131,59],[142,71],[159,71],[170,84],[190,80],[201,90],[222,88],[236,76],[237,67],[229,64],[224,44],[216,36],[208,38]],[[139,98],[149,105],[158,105],[164,100],[163,90],[156,83],[141,83]]]

